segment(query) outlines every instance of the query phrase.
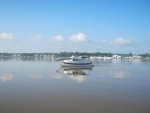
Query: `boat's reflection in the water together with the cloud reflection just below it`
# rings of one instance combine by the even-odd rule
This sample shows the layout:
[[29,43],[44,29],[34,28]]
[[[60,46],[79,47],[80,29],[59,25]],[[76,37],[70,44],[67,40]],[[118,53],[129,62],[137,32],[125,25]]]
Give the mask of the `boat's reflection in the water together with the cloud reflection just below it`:
[[82,83],[90,75],[93,67],[60,67],[59,72],[69,75],[68,78]]

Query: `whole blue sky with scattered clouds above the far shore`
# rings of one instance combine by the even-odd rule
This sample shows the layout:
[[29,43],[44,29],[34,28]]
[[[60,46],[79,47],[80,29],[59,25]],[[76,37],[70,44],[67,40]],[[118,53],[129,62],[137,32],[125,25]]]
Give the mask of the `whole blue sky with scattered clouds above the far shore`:
[[0,0],[0,53],[150,53],[149,0]]

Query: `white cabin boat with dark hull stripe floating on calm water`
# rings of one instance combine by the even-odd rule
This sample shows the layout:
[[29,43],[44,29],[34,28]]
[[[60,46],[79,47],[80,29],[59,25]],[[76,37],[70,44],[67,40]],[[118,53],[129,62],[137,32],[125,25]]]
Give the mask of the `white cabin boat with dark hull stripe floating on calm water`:
[[70,57],[69,59],[67,60],[64,60],[62,62],[60,62],[60,65],[61,66],[66,66],[66,67],[93,67],[93,63],[92,61],[86,61],[86,60],[83,60],[82,57],[75,57],[75,56],[72,56]]

